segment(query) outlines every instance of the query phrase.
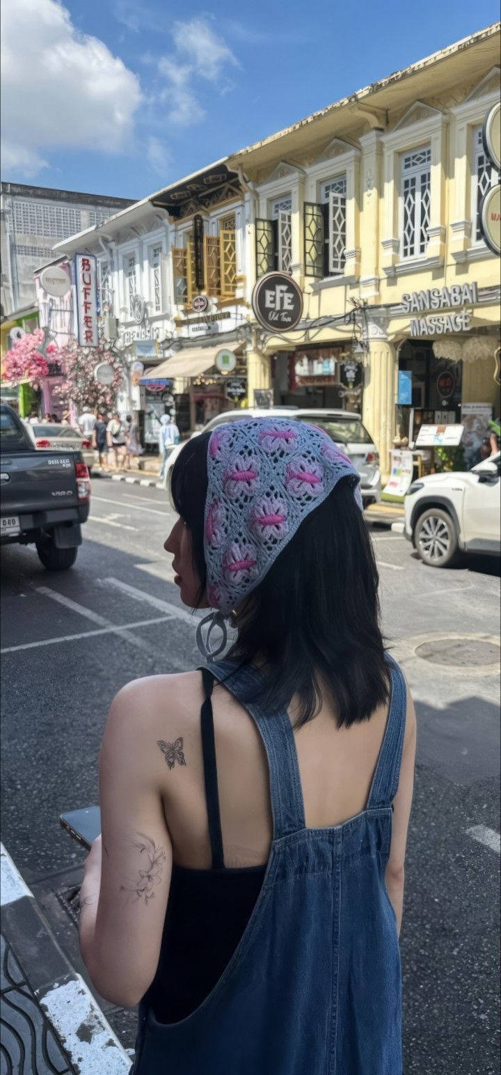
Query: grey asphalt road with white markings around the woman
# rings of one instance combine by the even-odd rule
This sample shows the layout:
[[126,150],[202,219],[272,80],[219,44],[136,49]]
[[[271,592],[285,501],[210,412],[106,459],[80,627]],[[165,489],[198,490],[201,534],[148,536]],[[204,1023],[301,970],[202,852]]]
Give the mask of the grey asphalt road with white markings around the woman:
[[[72,916],[83,857],[58,815],[97,801],[116,691],[138,675],[199,663],[162,549],[170,519],[162,490],[96,478],[72,571],[45,572],[32,548],[1,555],[2,841],[81,972]],[[384,630],[418,714],[401,934],[404,1071],[490,1075],[499,1071],[499,565],[436,571],[403,538],[372,533]],[[133,1014],[104,1007],[132,1048]]]

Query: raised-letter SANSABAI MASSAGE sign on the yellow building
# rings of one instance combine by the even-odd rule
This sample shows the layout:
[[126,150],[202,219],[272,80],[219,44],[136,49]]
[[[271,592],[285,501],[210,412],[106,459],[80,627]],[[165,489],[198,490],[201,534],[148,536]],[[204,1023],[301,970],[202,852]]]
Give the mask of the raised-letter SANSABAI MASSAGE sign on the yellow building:
[[[430,287],[425,291],[402,295],[404,314],[424,313],[411,321],[412,336],[443,335],[445,332],[468,332],[471,328],[472,310],[478,302],[475,284],[453,284],[450,287]],[[453,309],[452,309],[453,307]],[[455,310],[454,307],[461,307]],[[431,313],[429,310],[448,310],[447,314]]]

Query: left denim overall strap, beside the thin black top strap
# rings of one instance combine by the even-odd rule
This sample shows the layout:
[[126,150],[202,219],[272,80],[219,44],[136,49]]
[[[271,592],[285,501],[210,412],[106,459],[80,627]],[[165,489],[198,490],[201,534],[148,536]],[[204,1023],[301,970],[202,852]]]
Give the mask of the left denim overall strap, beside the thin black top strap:
[[298,755],[287,712],[264,713],[261,706],[246,700],[262,677],[258,669],[248,665],[239,668],[235,662],[227,660],[210,663],[207,669],[247,710],[264,744],[270,774],[273,840],[304,829]]

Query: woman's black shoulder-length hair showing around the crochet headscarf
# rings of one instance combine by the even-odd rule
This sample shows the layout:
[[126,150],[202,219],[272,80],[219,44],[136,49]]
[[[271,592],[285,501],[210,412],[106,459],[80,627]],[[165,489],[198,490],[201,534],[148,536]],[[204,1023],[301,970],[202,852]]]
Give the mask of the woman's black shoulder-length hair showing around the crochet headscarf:
[[[187,442],[172,470],[174,507],[191,533],[194,565],[206,585],[203,548],[210,433]],[[269,712],[298,702],[296,727],[315,717],[323,691],[338,727],[368,720],[388,701],[380,628],[378,574],[366,521],[346,476],[302,520],[268,574],[233,613],[227,655],[263,673],[248,701]]]

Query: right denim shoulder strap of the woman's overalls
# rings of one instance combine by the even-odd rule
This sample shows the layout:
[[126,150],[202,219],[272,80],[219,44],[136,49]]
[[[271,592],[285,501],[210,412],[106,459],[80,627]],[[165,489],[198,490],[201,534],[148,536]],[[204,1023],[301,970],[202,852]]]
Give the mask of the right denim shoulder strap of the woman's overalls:
[[405,733],[406,685],[397,661],[386,655],[391,676],[391,699],[383,746],[372,780],[368,809],[389,806],[397,794]]

